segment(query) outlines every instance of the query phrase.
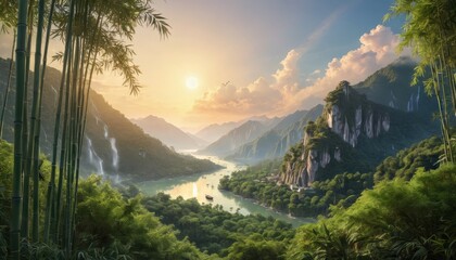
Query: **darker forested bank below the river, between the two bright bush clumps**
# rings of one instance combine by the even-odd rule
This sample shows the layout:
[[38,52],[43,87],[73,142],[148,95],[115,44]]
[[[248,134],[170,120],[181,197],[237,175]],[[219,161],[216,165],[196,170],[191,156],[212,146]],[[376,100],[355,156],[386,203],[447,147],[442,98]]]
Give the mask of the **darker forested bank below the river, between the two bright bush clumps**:
[[[160,193],[142,203],[163,223],[173,224],[178,237],[188,237],[201,250],[228,259],[280,259],[294,235],[290,224],[271,217],[230,213],[218,205],[201,206],[195,199],[170,199]],[[248,250],[256,251],[258,258],[245,258]]]

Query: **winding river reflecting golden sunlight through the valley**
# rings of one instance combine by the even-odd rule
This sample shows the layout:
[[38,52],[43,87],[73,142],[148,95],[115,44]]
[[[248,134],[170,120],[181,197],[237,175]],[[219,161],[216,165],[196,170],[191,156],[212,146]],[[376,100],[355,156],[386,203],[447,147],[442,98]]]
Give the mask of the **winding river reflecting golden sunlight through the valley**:
[[[245,169],[245,166],[236,165],[230,161],[221,160],[213,156],[195,156],[206,158],[215,164],[224,166],[224,169],[212,173],[201,173],[187,177],[176,177],[157,181],[147,181],[138,183],[141,191],[148,195],[155,195],[160,192],[169,194],[173,198],[181,196],[185,199],[197,198],[202,205],[221,205],[223,209],[229,212],[239,211],[241,214],[259,213],[265,217],[274,217],[284,222],[291,223],[294,227],[305,223],[314,222],[314,219],[293,218],[286,213],[277,212],[270,208],[263,207],[252,199],[242,198],[230,192],[217,188],[219,180],[231,172]],[[208,200],[206,195],[213,197]]]

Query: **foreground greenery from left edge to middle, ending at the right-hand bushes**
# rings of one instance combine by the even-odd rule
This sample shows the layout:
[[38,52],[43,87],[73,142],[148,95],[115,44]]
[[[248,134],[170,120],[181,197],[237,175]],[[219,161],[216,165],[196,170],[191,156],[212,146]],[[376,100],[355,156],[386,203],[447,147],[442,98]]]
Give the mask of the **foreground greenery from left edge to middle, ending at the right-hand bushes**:
[[[13,148],[0,142],[0,252],[8,256]],[[46,197],[50,162],[41,167]],[[81,180],[77,194],[75,244],[71,256],[55,244],[27,243],[30,259],[281,259],[294,236],[290,224],[262,216],[224,211],[197,200],[143,197],[130,186],[119,191],[98,176]],[[41,211],[41,213],[43,210]],[[40,214],[42,220],[43,214]],[[212,253],[210,257],[206,253]],[[26,253],[26,255],[24,255]],[[254,258],[257,257],[257,258]]]

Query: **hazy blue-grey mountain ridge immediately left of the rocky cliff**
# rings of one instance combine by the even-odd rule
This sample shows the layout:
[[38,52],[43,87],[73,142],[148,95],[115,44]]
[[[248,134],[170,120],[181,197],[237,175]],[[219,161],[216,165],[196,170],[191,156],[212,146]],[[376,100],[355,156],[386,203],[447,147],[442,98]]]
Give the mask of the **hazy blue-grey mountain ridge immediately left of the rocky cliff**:
[[233,154],[227,156],[227,159],[253,164],[283,156],[303,138],[305,125],[315,120],[321,112],[322,105],[317,105],[311,110],[296,110],[286,116],[271,130],[240,146]]

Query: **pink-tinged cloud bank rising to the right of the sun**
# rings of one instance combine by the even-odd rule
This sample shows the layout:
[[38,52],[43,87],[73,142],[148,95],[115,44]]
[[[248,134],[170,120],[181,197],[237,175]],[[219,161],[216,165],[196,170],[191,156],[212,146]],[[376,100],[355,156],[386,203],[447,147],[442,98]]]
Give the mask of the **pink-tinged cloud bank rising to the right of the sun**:
[[[197,113],[251,116],[284,115],[321,103],[341,80],[357,83],[397,58],[398,36],[378,25],[359,38],[360,46],[328,63],[321,77],[300,82],[297,62],[303,51],[291,50],[267,80],[259,77],[248,87],[221,84],[207,92],[193,106]],[[304,51],[305,52],[305,51]],[[317,76],[316,69],[312,75]]]

